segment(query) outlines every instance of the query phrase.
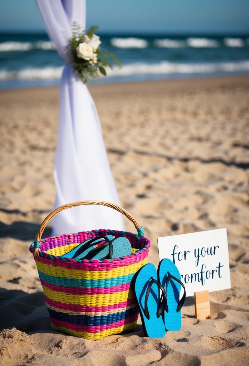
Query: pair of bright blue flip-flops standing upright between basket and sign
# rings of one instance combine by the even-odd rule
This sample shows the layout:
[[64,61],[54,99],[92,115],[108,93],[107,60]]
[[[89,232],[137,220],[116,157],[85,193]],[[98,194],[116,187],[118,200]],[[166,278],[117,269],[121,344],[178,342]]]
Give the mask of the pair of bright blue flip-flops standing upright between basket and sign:
[[[180,299],[181,287],[184,294]],[[164,337],[165,330],[181,328],[180,310],[186,292],[179,270],[170,259],[162,259],[157,270],[152,263],[142,266],[134,276],[133,289],[146,337]]]

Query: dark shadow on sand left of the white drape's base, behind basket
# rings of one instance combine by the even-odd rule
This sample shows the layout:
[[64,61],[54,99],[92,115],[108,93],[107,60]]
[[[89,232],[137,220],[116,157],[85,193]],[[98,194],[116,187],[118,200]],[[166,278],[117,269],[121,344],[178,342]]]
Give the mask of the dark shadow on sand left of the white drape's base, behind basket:
[[[14,238],[19,240],[33,241],[37,234],[40,225],[34,223],[28,223],[25,221],[15,221],[11,225],[0,222],[0,238]],[[44,237],[51,236],[51,228],[46,227],[44,230]]]

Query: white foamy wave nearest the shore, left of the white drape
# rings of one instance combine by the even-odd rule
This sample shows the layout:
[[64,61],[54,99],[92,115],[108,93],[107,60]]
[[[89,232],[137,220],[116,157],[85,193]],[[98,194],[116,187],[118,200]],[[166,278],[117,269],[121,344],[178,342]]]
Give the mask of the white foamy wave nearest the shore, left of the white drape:
[[60,79],[63,67],[27,68],[20,71],[0,71],[0,81]]

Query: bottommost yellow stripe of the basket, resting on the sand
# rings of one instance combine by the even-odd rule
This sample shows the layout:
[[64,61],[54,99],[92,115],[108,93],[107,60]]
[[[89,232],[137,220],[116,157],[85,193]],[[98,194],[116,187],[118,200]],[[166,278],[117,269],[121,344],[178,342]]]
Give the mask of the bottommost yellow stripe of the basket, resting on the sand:
[[100,339],[103,337],[111,336],[112,334],[118,334],[121,332],[125,332],[126,330],[134,329],[136,324],[137,324],[137,321],[134,321],[132,323],[119,326],[118,328],[102,330],[102,332],[98,332],[98,333],[76,332],[75,330],[64,328],[64,326],[56,326],[52,322],[51,322],[51,328],[53,330],[57,330],[57,332],[68,333],[71,336],[81,337],[81,338],[90,339],[90,340],[97,340],[97,339]]

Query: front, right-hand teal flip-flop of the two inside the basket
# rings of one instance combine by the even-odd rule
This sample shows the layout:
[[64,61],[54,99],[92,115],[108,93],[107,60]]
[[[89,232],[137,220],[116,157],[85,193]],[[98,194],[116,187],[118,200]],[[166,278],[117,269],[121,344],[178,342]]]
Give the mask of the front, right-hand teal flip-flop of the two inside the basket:
[[90,239],[87,243],[90,250],[84,251],[84,253],[74,257],[74,259],[99,259],[102,261],[103,259],[119,258],[131,254],[131,244],[127,238],[119,236],[118,238],[112,237],[113,239],[110,240],[108,235],[104,238],[106,238],[106,242],[93,249],[90,247],[93,246],[94,242],[91,242]]

